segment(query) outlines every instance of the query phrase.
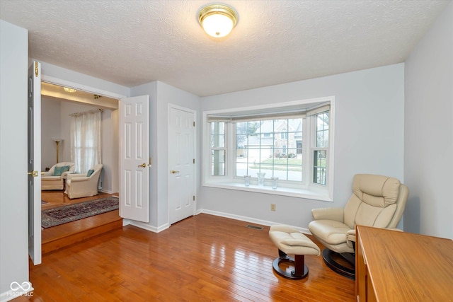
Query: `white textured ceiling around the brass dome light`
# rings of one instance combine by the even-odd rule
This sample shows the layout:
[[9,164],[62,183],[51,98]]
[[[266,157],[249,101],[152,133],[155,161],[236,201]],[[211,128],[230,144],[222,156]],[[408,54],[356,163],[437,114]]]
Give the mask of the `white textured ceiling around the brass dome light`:
[[206,96],[404,62],[449,1],[221,1],[239,14],[222,41],[197,23],[209,3],[0,0],[0,18],[38,61]]

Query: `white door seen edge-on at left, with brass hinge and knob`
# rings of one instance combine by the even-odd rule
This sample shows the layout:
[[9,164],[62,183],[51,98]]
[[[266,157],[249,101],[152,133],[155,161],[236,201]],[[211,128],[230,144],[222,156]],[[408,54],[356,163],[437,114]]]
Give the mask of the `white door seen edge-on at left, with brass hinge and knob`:
[[28,254],[41,263],[41,65],[28,68]]

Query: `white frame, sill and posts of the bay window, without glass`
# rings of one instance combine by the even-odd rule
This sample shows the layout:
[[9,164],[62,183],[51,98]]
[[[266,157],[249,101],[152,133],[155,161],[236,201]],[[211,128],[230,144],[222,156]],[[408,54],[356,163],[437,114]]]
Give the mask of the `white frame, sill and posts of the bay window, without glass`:
[[[264,187],[258,187],[257,180],[252,178],[251,185],[246,187],[243,179],[236,178],[236,171],[233,168],[235,158],[231,158],[235,152],[226,152],[226,175],[212,176],[211,175],[211,156],[210,156],[210,124],[207,122],[208,115],[222,115],[233,112],[249,112],[251,110],[257,110],[258,112],[263,110],[281,109],[281,108],[294,108],[297,105],[307,105],[310,103],[330,103],[331,109],[329,112],[329,146],[328,146],[328,170],[326,176],[326,186],[318,185],[313,182],[312,175],[310,173],[311,168],[303,170],[304,184],[302,186],[294,185],[289,182],[279,181],[279,185],[276,190],[272,189],[270,180],[265,180]],[[205,187],[217,187],[222,189],[230,190],[241,190],[248,192],[259,192],[264,194],[275,194],[289,197],[299,197],[304,199],[316,199],[321,201],[333,202],[333,175],[334,175],[334,141],[335,141],[335,97],[329,96],[325,98],[314,98],[307,100],[297,100],[292,102],[278,103],[273,105],[258,105],[246,108],[231,108],[224,110],[212,110],[203,112],[203,126],[202,126],[202,185]],[[304,127],[313,127],[311,123],[305,122]],[[306,128],[303,128],[306,129]],[[312,133],[313,129],[309,129]],[[303,130],[304,131],[304,130]],[[226,132],[231,135],[231,126],[227,127]],[[311,138],[306,138],[311,139]],[[305,141],[305,139],[304,139]],[[226,149],[234,150],[234,139],[226,139]],[[305,145],[305,144],[304,144]],[[302,149],[302,156],[304,158],[310,158],[310,166],[313,166],[313,158],[309,155],[311,148],[306,146]]]

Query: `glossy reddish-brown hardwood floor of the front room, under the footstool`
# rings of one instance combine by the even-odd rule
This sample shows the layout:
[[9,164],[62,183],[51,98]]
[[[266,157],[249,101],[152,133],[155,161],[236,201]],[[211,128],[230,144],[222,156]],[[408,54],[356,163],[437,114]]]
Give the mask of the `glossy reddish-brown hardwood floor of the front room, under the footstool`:
[[306,256],[306,279],[277,276],[269,227],[247,224],[200,214],[161,233],[125,226],[43,255],[33,296],[14,301],[355,301],[354,281],[321,256]]

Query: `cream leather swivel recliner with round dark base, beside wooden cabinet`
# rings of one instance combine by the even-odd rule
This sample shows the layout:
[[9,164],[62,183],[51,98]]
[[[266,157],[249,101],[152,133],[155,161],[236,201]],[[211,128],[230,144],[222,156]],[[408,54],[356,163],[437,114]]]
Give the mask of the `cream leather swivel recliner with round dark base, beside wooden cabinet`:
[[396,178],[357,174],[352,182],[352,196],[344,208],[313,209],[314,221],[309,223],[309,230],[326,247],[322,252],[326,265],[355,279],[355,269],[340,265],[333,256],[339,254],[355,267],[355,226],[396,228],[408,194],[408,187]]

